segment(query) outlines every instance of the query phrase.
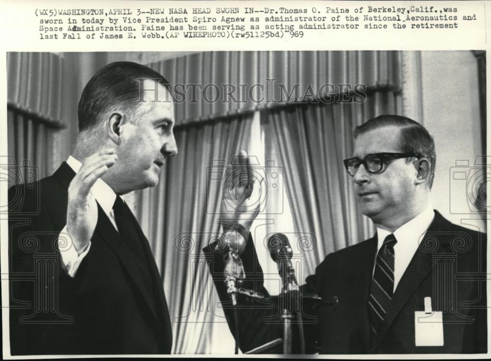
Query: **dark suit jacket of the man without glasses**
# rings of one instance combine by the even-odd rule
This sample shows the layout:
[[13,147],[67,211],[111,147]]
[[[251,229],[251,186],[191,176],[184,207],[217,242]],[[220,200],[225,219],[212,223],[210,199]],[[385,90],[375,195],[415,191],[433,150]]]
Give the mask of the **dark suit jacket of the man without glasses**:
[[62,266],[57,236],[74,176],[63,163],[50,177],[9,189],[12,355],[170,353],[162,280],[139,226],[154,287],[100,206],[75,278]]

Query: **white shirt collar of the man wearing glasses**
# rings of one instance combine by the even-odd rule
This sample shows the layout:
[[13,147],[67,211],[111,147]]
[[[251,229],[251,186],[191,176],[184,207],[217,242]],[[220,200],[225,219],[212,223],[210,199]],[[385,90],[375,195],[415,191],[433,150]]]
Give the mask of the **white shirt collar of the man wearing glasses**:
[[[435,218],[435,211],[431,203],[428,203],[426,209],[414,217],[409,222],[406,222],[399,228],[397,228],[393,234],[396,237],[397,245],[414,245],[419,246],[423,237],[421,235],[426,232],[430,224]],[[378,249],[382,247],[383,240],[390,234],[389,231],[377,227]],[[416,243],[417,242],[417,243]]]

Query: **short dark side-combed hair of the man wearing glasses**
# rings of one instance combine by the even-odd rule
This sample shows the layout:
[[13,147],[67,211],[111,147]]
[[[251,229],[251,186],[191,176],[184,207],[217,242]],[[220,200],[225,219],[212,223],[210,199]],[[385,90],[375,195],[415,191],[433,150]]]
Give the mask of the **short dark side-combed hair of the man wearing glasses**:
[[427,158],[431,164],[430,178],[428,180],[430,189],[435,178],[435,141],[425,127],[418,122],[400,115],[379,115],[376,118],[367,120],[353,131],[355,139],[358,135],[367,133],[382,127],[395,126],[401,129],[401,152],[412,153],[419,158]]

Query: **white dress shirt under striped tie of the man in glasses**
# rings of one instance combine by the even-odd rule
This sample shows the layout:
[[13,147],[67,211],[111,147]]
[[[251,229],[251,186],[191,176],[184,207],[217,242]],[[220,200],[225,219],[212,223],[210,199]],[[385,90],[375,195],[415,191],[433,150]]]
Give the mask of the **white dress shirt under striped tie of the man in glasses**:
[[[430,203],[423,212],[394,231],[393,234],[397,240],[394,245],[394,292],[434,218],[435,211]],[[380,250],[383,240],[389,234],[389,231],[377,227],[377,251]]]

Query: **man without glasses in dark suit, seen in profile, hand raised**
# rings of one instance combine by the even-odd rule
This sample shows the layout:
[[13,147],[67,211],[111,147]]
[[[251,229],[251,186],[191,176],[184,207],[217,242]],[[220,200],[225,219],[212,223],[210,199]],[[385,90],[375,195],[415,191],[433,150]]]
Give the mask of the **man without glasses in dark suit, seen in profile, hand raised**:
[[85,86],[78,115],[73,156],[9,190],[11,354],[168,354],[162,279],[120,195],[157,185],[177,154],[170,85],[111,63]]

